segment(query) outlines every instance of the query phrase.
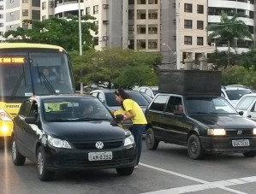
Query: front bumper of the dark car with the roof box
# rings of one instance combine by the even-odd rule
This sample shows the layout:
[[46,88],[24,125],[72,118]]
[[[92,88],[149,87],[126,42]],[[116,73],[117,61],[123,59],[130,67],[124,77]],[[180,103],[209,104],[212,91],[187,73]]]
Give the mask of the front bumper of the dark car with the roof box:
[[[200,136],[202,147],[206,151],[212,152],[246,152],[256,150],[256,138],[254,137],[225,137],[225,138],[210,138]],[[248,139],[249,146],[233,146],[232,140]]]

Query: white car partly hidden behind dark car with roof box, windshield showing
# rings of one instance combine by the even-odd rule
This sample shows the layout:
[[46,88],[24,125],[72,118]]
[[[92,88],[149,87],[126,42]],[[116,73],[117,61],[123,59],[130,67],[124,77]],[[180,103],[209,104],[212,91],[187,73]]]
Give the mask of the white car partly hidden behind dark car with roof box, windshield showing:
[[252,93],[250,89],[243,85],[227,85],[222,86],[221,96],[225,97],[233,107],[244,95]]

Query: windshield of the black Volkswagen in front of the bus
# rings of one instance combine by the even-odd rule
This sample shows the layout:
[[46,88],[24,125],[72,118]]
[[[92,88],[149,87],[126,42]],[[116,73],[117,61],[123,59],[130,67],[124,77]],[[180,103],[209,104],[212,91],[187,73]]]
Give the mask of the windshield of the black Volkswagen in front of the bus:
[[97,98],[68,97],[45,99],[43,115],[46,121],[110,121],[112,116]]

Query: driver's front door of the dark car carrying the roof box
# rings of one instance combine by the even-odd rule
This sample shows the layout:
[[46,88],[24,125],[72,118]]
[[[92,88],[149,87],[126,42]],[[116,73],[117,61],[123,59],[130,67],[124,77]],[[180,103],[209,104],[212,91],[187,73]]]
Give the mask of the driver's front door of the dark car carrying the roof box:
[[182,115],[182,112],[180,112],[181,115],[175,114],[175,111],[179,112],[179,106],[184,107],[182,97],[171,96],[164,111],[162,122],[166,137],[171,141],[183,143],[184,139],[187,138],[188,125],[186,124],[186,117]]

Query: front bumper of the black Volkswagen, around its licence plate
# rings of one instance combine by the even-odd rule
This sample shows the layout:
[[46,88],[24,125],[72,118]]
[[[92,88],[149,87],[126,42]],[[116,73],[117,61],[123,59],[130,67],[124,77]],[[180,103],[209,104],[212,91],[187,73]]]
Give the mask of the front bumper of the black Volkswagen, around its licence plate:
[[[89,161],[89,152],[112,151],[112,160]],[[81,170],[81,169],[105,169],[128,168],[136,165],[135,146],[129,149],[118,148],[111,150],[68,150],[45,147],[46,168],[48,170]]]

